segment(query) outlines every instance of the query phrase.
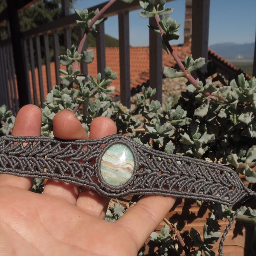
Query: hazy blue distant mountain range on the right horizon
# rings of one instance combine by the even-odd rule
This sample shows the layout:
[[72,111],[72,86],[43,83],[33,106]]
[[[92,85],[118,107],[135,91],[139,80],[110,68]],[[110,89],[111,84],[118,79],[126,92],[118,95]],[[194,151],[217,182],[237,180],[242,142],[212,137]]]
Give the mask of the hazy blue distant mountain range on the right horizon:
[[209,48],[215,51],[218,55],[225,59],[239,59],[239,58],[253,58],[254,43],[250,44],[235,44],[235,43],[222,43],[212,44]]

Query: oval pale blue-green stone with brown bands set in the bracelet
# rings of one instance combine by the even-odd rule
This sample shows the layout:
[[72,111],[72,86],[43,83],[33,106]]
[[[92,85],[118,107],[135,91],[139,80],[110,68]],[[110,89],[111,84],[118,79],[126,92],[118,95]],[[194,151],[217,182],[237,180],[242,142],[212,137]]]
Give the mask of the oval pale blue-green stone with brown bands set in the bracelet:
[[126,183],[134,171],[134,156],[127,145],[116,143],[110,146],[102,156],[100,172],[111,186]]

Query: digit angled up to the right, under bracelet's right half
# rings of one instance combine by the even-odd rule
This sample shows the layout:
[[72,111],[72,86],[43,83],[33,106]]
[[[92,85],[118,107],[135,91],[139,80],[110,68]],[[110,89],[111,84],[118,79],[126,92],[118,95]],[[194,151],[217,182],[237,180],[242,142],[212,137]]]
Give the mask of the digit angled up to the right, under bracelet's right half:
[[138,250],[156,229],[176,199],[160,195],[145,196],[116,221],[124,227],[137,243]]

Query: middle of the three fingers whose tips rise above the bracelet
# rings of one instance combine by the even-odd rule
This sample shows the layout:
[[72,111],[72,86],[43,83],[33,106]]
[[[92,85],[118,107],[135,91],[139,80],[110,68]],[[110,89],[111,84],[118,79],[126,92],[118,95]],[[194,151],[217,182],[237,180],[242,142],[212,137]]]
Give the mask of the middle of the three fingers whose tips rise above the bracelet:
[[[53,134],[55,137],[64,140],[88,139],[88,135],[76,118],[73,111],[62,110],[53,118]],[[71,204],[76,204],[79,194],[79,187],[57,180],[47,180],[44,187],[44,194],[50,194],[66,199]]]

